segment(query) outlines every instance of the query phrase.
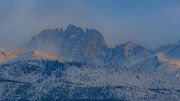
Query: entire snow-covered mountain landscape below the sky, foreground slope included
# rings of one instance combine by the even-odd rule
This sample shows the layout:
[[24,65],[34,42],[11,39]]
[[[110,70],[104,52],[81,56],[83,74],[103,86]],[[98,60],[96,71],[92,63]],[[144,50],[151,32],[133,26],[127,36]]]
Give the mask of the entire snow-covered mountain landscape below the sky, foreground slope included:
[[0,99],[178,101],[180,44],[161,49],[108,47],[74,25],[44,30],[23,51],[0,49]]

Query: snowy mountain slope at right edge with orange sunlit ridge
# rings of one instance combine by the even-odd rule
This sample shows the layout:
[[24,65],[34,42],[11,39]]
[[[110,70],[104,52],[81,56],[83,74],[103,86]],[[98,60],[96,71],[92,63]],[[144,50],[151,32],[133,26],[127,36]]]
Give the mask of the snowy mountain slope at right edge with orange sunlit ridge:
[[161,72],[164,75],[179,77],[180,74],[180,57],[179,49],[180,44],[176,43],[174,47],[144,59],[143,61],[130,67],[131,71],[137,73],[149,73],[151,72]]

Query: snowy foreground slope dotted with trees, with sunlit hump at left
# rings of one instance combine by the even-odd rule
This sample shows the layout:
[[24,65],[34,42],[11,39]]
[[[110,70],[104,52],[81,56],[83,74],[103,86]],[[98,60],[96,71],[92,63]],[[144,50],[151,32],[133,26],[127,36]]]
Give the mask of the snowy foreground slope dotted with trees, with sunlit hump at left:
[[1,100],[179,99],[176,77],[151,70],[134,73],[95,68],[80,62],[61,62],[45,53],[26,52],[18,61],[0,65]]

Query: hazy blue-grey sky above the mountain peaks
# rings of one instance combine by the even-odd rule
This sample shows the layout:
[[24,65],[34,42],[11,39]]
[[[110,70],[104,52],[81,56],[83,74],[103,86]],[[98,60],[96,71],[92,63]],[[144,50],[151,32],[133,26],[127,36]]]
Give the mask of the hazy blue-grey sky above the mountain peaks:
[[154,49],[180,40],[180,0],[0,0],[1,48],[68,24],[99,30],[109,45]]

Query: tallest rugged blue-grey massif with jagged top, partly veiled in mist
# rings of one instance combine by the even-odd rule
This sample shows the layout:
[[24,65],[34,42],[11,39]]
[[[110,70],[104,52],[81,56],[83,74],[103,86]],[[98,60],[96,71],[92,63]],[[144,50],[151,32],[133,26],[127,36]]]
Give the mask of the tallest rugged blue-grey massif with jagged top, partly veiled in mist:
[[69,25],[63,29],[48,29],[34,36],[27,44],[28,49],[48,51],[67,60],[92,60],[103,57],[106,48],[104,37],[95,29]]

